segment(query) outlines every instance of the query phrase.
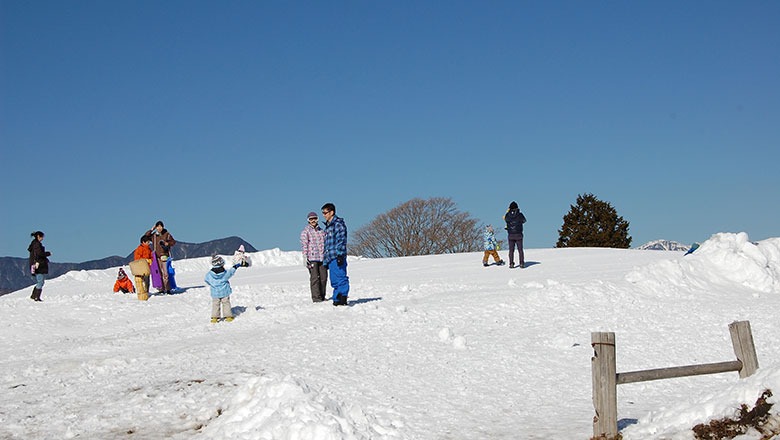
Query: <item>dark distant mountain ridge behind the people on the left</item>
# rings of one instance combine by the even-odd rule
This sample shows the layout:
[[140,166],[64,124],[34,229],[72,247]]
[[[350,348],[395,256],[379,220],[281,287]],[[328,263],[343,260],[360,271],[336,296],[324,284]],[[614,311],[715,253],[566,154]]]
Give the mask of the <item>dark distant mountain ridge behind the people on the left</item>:
[[[207,257],[213,254],[230,255],[242,244],[247,252],[257,252],[254,246],[241,237],[227,237],[205,243],[177,241],[176,245],[171,248],[171,256],[174,260],[183,260],[185,258]],[[33,277],[30,276],[30,266],[27,264],[27,260],[27,258],[0,257],[0,295],[35,284]],[[124,258],[115,255],[83,263],[51,262],[49,263],[47,279],[57,278],[72,270],[108,269],[109,267],[125,265],[131,261],[133,261],[132,252]]]

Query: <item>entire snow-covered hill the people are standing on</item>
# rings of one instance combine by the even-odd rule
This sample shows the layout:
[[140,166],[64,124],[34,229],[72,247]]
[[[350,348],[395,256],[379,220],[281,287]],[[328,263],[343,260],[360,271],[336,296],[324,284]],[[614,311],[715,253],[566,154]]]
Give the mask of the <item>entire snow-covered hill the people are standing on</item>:
[[630,371],[732,360],[736,320],[759,372],[621,385],[624,438],[691,439],[780,396],[777,238],[530,249],[525,269],[350,258],[343,308],[311,303],[299,252],[251,255],[232,323],[209,323],[208,258],[176,261],[183,291],[148,302],[111,293],[116,268],[0,297],[0,438],[587,439],[590,332],[616,332]]

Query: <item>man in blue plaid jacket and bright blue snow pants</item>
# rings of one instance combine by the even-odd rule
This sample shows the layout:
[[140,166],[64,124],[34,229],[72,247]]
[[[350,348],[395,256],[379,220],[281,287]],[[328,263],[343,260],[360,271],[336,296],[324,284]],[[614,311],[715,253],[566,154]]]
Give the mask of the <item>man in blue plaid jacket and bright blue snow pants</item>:
[[336,206],[326,203],[322,206],[325,217],[325,256],[322,263],[330,272],[333,287],[333,305],[347,305],[349,277],[347,276],[347,226],[344,219],[336,216]]

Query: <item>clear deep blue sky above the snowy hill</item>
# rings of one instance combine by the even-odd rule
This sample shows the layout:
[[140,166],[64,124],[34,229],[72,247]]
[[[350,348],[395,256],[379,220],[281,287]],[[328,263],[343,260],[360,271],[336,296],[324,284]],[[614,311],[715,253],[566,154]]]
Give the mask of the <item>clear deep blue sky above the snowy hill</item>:
[[586,192],[635,246],[780,236],[777,1],[0,5],[0,256],[292,250],[431,196],[552,247]]

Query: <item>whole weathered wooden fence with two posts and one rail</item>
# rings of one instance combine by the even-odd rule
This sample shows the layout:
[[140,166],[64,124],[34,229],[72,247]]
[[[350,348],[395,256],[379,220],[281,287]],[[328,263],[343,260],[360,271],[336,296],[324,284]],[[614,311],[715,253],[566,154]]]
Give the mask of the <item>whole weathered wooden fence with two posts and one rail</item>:
[[617,429],[617,386],[626,383],[675,377],[698,376],[738,371],[739,377],[748,377],[758,370],[758,356],[753,344],[753,333],[749,321],[729,324],[731,343],[737,360],[713,364],[687,365],[684,367],[658,368],[653,370],[617,373],[615,358],[615,333],[591,333],[593,358],[593,439],[616,440],[620,438]]

